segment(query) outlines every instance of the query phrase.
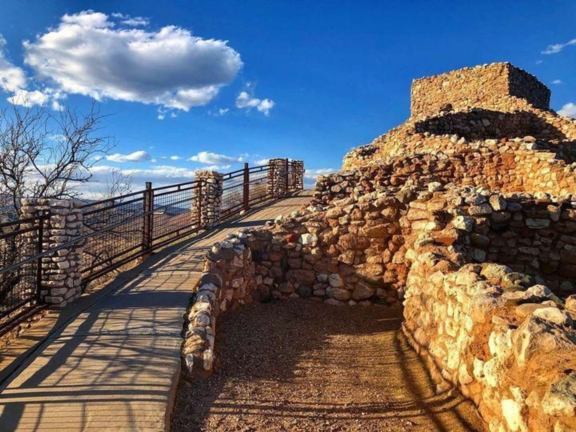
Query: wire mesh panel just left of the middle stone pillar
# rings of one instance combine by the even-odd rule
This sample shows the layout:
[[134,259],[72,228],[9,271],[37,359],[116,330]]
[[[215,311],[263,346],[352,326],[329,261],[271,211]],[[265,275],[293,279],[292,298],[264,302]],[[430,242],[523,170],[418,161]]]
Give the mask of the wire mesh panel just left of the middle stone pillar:
[[153,190],[152,247],[157,248],[202,228],[199,181]]

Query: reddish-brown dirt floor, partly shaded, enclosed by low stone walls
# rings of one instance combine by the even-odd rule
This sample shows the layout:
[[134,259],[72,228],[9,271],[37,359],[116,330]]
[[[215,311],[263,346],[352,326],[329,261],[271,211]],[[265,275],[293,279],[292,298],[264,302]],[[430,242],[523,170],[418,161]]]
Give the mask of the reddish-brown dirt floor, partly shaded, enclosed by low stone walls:
[[172,430],[475,431],[473,404],[435,394],[401,311],[313,301],[226,313],[211,377],[181,378]]

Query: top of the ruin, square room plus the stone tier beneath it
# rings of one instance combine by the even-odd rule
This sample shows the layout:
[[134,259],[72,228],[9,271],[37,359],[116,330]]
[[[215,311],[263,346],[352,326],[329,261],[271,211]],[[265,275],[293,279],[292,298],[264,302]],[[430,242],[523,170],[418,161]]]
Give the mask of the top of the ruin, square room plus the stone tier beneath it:
[[508,63],[497,63],[416,80],[412,118],[370,145],[350,151],[343,169],[389,156],[450,151],[477,139],[532,136],[548,145],[573,147],[576,120],[549,111],[549,90],[532,75],[518,71]]

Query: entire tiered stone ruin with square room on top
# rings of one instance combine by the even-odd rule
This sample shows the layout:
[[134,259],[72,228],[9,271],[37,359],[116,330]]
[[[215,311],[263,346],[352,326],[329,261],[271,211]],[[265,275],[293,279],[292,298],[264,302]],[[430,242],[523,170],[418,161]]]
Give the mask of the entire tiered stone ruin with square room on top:
[[213,246],[183,359],[253,301],[403,306],[439,392],[491,431],[576,430],[576,120],[494,63],[415,80],[411,117],[319,176],[309,206]]

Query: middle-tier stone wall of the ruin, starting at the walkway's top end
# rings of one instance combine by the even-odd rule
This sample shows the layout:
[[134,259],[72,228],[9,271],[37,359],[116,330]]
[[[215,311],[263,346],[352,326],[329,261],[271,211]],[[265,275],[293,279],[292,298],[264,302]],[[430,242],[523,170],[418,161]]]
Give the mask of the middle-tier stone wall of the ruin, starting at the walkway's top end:
[[[449,139],[449,138],[448,138]],[[565,196],[576,194],[576,164],[572,149],[547,146],[533,137],[477,143],[452,138],[452,151],[413,153],[395,156],[378,163],[319,176],[314,186],[314,202],[329,203],[350,194],[366,194],[400,185],[473,185],[502,192],[528,192]]]

